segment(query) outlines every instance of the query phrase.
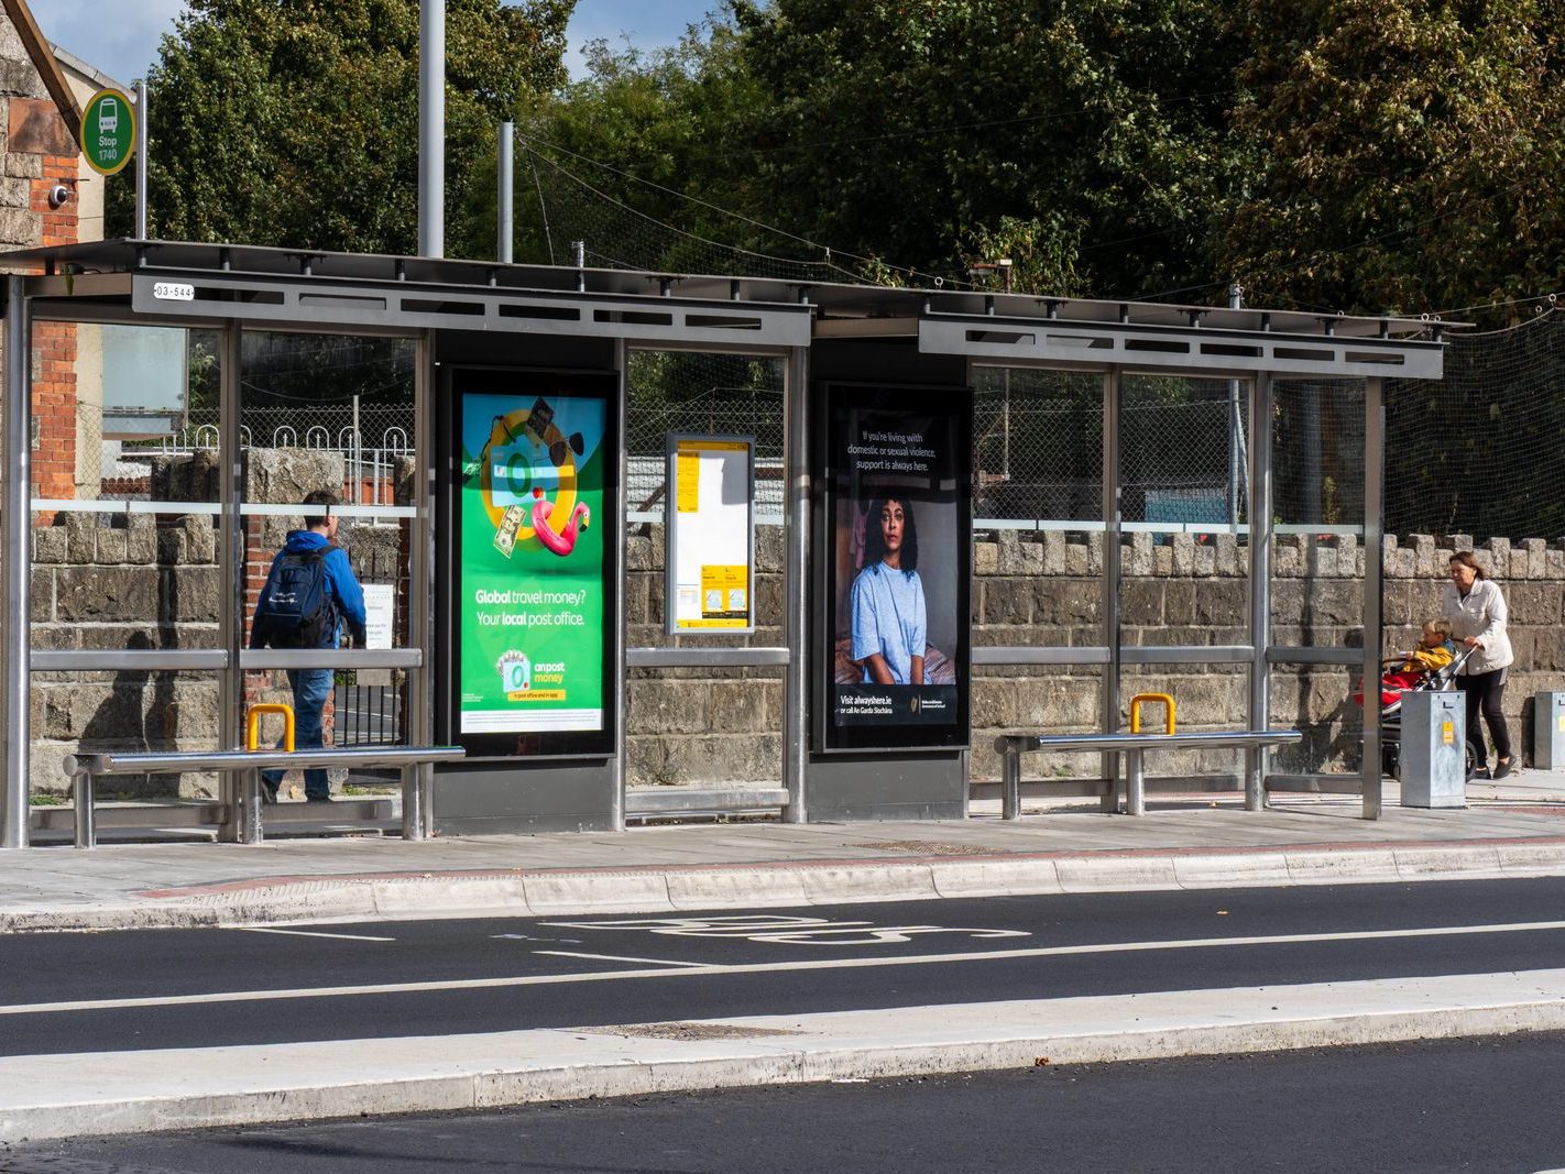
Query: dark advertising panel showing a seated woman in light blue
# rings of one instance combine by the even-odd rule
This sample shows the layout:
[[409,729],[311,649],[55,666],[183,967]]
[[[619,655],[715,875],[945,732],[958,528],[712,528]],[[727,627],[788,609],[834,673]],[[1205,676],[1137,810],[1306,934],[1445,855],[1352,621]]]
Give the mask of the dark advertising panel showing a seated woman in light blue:
[[970,396],[829,384],[820,750],[967,745]]

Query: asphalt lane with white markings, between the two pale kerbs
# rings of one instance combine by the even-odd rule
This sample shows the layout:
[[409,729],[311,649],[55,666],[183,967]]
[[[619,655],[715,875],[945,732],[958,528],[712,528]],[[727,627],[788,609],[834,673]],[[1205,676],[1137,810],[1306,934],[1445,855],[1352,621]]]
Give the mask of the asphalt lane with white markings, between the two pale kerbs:
[[1562,917],[1543,878],[0,936],[0,1053],[1529,971]]

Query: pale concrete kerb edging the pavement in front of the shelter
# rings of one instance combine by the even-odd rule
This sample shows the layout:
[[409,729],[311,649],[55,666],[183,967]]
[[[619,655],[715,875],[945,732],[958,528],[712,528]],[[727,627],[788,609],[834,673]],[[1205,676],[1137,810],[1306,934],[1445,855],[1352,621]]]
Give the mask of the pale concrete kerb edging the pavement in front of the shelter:
[[1565,841],[1103,852],[668,869],[282,877],[0,908],[0,931],[659,914],[952,897],[1365,884],[1565,873]]

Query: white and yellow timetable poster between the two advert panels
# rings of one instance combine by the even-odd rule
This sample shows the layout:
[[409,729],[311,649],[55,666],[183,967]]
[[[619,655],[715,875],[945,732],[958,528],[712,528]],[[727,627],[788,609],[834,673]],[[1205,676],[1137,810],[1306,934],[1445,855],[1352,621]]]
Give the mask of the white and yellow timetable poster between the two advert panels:
[[668,631],[751,631],[754,441],[670,437]]

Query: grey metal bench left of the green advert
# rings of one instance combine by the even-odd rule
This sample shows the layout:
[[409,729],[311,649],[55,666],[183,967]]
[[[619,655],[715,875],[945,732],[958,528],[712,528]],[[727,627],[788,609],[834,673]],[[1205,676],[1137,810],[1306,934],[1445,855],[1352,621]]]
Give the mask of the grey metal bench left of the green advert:
[[239,844],[261,842],[261,772],[282,767],[402,767],[402,833],[418,834],[421,811],[415,767],[455,762],[466,756],[462,747],[352,747],[346,750],[128,750],[97,754],[66,754],[66,773],[75,801],[75,844],[91,848],[97,841],[92,817],[92,784],[105,775],[182,773],[214,770],[224,776],[224,797],[233,805],[228,823]]

